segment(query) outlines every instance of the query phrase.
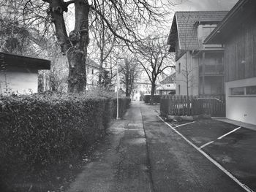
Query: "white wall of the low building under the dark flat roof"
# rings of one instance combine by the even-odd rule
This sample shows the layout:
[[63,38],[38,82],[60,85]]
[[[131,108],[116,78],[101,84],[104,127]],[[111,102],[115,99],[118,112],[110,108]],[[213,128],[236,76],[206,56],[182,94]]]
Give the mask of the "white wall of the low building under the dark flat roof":
[[[5,75],[10,93],[37,93],[38,78],[37,69],[8,69],[7,72],[0,72],[1,92],[5,92]],[[31,90],[31,91],[29,91]]]

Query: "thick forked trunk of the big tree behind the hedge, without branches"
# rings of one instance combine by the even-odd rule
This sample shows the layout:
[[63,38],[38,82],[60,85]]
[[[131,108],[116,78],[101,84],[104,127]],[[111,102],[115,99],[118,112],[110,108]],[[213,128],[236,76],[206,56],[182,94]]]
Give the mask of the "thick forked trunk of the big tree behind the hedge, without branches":
[[75,29],[69,37],[64,23],[63,12],[67,12],[67,2],[47,1],[49,14],[56,28],[56,37],[61,51],[67,54],[69,62],[68,92],[83,93],[86,88],[86,56],[89,45],[89,2],[76,0]]

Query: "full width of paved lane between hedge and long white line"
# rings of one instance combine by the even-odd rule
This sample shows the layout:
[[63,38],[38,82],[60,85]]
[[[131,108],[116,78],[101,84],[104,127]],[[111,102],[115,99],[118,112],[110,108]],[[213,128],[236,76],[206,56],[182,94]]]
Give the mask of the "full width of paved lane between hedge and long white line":
[[132,103],[68,192],[244,191],[157,115]]

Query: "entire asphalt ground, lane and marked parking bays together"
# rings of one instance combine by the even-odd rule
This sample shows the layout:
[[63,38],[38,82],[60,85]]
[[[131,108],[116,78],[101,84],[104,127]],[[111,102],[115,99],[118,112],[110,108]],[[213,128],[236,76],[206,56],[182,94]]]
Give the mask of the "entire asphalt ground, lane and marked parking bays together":
[[132,103],[67,191],[246,191],[239,183],[255,188],[255,132],[214,120],[166,123],[157,110]]

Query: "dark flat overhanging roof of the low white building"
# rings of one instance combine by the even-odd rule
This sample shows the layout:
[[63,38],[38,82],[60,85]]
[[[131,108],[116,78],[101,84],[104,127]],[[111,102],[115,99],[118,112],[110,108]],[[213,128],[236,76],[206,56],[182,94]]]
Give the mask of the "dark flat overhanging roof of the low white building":
[[31,58],[0,52],[0,66],[6,68],[12,66],[29,69],[50,69],[50,61],[42,58]]

